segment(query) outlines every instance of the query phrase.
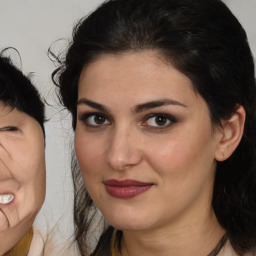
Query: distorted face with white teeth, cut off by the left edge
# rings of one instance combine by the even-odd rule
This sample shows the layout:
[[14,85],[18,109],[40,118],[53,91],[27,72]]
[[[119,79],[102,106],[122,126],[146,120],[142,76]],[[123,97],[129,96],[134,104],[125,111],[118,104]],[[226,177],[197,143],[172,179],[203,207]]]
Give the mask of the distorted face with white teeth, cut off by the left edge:
[[[31,228],[45,197],[44,135],[31,116],[0,104],[0,254]],[[8,203],[8,197],[14,199]]]

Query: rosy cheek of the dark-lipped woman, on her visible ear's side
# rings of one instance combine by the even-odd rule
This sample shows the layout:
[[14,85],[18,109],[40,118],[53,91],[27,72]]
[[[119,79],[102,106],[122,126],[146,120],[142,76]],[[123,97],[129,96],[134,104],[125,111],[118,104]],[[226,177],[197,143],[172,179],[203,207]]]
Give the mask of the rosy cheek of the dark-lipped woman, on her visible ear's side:
[[145,145],[147,161],[164,176],[184,178],[193,172],[199,174],[209,169],[214,160],[210,134],[187,131],[151,144],[154,146]]

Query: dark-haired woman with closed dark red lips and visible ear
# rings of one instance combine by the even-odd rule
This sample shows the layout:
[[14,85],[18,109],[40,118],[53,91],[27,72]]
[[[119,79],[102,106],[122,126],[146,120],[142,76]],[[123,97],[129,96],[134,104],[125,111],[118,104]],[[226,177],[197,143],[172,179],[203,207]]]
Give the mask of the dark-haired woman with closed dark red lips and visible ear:
[[110,0],[53,77],[72,113],[76,240],[88,255],[254,255],[256,86],[219,0]]

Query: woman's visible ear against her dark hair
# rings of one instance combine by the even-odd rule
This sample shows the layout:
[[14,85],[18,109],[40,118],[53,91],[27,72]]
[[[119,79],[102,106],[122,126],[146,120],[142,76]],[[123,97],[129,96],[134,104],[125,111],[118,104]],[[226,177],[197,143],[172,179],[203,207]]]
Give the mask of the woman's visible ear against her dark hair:
[[228,159],[237,148],[244,132],[245,110],[239,106],[228,120],[222,122],[220,141],[215,152],[217,161]]

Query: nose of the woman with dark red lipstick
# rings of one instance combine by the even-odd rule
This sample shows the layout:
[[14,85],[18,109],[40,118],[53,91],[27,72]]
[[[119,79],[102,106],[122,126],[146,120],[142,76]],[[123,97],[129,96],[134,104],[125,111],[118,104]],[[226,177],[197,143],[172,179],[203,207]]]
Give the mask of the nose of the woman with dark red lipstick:
[[107,152],[107,162],[112,169],[122,171],[141,163],[143,155],[135,133],[129,128],[113,131]]

